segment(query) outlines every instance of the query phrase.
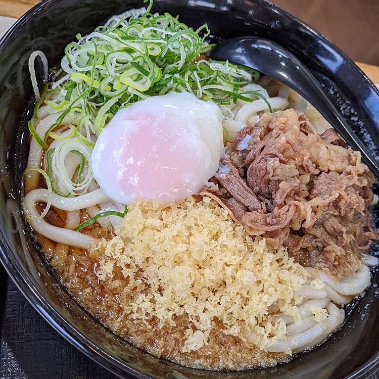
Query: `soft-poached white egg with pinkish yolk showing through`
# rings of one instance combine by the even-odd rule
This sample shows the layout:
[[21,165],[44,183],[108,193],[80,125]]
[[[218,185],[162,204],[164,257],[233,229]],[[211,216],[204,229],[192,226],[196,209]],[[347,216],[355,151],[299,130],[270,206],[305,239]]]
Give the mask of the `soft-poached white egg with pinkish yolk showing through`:
[[216,104],[187,92],[134,103],[101,132],[92,152],[93,176],[119,203],[182,201],[218,168],[222,120]]

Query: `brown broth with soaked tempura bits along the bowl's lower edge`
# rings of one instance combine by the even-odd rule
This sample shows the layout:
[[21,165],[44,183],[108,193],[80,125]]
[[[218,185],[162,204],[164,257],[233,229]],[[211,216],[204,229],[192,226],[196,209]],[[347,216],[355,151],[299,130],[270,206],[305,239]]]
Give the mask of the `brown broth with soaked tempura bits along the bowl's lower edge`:
[[[82,221],[87,217],[87,214],[82,214]],[[83,231],[92,236],[111,238],[110,232],[102,230],[97,223]],[[182,353],[180,347],[189,324],[186,316],[175,317],[175,326],[164,327],[157,327],[158,322],[154,317],[146,321],[149,327],[141,320],[133,320],[123,312],[121,304],[132,300],[139,293],[123,291],[128,279],[124,278],[119,268],[114,269],[111,281],[99,281],[96,270],[100,258],[90,256],[86,250],[70,247],[64,261],[62,257],[53,257],[50,263],[62,278],[62,284],[83,308],[133,345],[188,367],[211,370],[267,367],[289,360],[288,355],[267,353],[257,347],[249,347],[239,338],[224,335],[222,323],[218,320],[219,329],[211,333],[208,345],[197,351]]]

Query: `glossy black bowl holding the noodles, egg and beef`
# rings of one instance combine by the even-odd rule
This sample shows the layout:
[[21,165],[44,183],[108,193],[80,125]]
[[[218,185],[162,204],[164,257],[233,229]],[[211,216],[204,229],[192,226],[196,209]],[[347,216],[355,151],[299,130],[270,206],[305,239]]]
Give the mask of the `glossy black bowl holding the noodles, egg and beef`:
[[[141,7],[137,0],[46,0],[11,28],[0,41],[0,258],[16,285],[62,336],[115,374],[144,378],[358,378],[379,368],[379,301],[375,285],[348,308],[344,326],[326,343],[299,354],[288,364],[241,372],[194,370],[141,351],[102,326],[74,301],[40,254],[20,210],[21,174],[27,157],[31,85],[29,55],[42,50],[50,66],[65,45],[111,15]],[[297,18],[264,0],[156,0],[167,11],[197,27],[208,23],[220,38],[256,34],[281,43],[313,72],[331,101],[372,153],[379,146],[379,93],[340,50]],[[376,187],[377,189],[377,187]],[[6,201],[10,199],[7,203]],[[5,210],[5,212],[4,212]],[[19,213],[18,213],[19,212]],[[377,221],[377,208],[373,210]],[[18,232],[15,232],[15,218]],[[372,248],[375,250],[375,247]],[[373,274],[373,282],[378,275]],[[354,309],[353,309],[354,308]]]

